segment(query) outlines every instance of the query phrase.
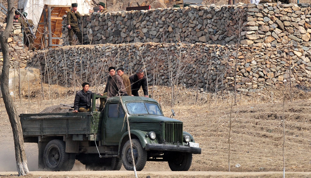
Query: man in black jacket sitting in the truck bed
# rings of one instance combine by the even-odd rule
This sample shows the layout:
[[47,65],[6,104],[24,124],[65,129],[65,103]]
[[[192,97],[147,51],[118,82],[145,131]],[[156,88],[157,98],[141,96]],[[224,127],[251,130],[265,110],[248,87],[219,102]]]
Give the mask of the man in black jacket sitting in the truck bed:
[[[85,82],[82,84],[82,90],[76,93],[74,98],[74,111],[73,112],[90,112],[91,111],[91,99],[93,92],[89,90],[90,84]],[[100,94],[101,96],[103,94]]]

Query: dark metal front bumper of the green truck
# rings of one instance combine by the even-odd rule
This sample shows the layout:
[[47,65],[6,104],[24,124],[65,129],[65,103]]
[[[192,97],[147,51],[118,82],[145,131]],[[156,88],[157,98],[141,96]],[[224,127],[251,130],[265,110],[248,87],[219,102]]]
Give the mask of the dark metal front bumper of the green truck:
[[146,144],[146,150],[158,150],[158,151],[177,151],[186,152],[192,154],[201,154],[201,148],[189,147],[189,146],[177,146],[166,144]]

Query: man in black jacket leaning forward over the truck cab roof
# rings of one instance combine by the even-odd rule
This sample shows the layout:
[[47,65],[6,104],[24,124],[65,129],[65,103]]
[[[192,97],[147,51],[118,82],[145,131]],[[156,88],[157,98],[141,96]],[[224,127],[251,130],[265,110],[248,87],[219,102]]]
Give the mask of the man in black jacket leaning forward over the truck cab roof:
[[142,69],[137,70],[136,74],[129,77],[129,79],[131,82],[132,95],[139,96],[138,90],[142,87],[145,97],[148,97],[147,78],[144,77],[144,71]]

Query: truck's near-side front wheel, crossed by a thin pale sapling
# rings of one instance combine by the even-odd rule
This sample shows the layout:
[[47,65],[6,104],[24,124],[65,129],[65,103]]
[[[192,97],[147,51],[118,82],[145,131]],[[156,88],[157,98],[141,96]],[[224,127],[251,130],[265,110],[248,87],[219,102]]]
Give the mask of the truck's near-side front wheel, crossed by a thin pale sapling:
[[[147,151],[141,146],[139,139],[132,139],[135,167],[137,171],[144,169],[147,161]],[[134,170],[130,140],[128,140],[122,149],[122,162],[126,170]]]

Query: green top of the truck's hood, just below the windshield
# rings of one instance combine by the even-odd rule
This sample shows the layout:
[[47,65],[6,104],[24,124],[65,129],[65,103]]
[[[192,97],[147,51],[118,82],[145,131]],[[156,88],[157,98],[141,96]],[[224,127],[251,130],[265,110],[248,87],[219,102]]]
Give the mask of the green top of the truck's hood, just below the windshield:
[[129,116],[128,119],[131,123],[141,123],[141,122],[182,122],[177,119],[172,119],[165,116],[158,116],[158,115],[132,115]]

